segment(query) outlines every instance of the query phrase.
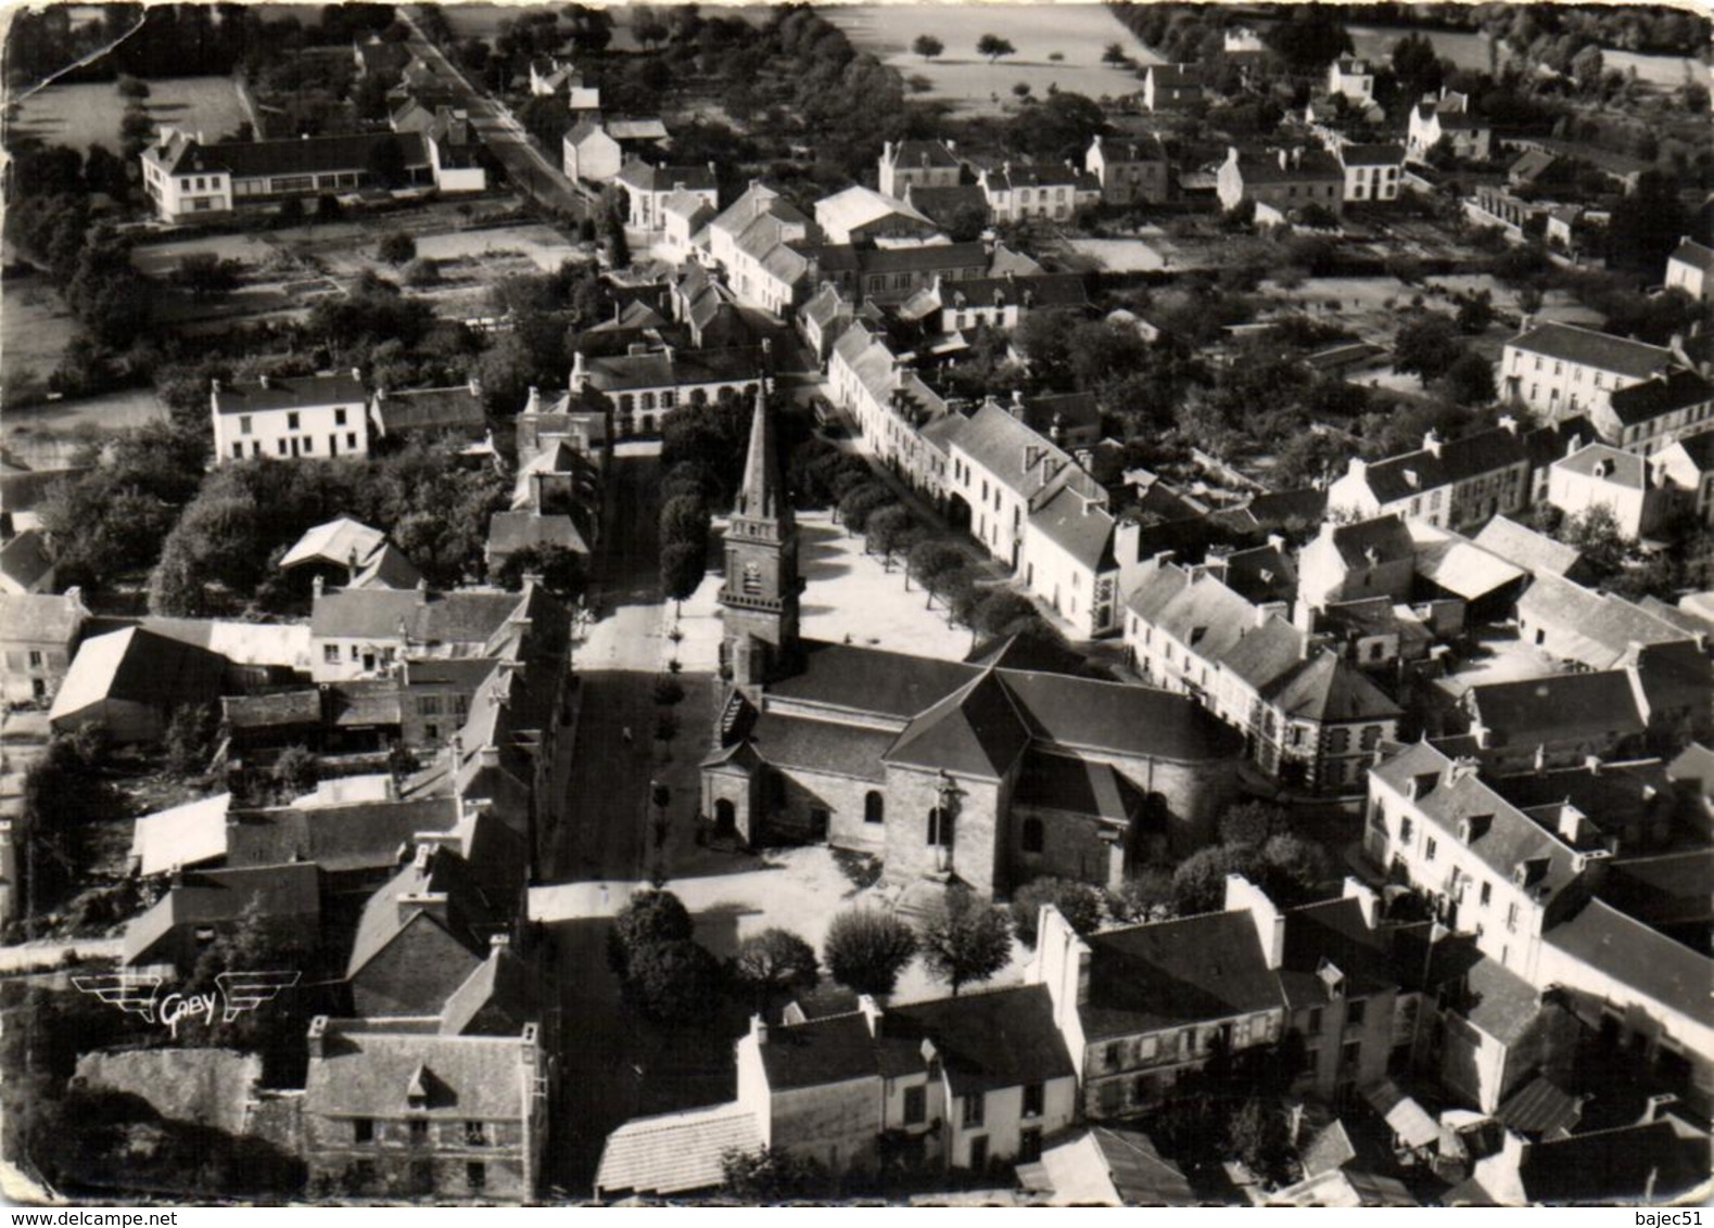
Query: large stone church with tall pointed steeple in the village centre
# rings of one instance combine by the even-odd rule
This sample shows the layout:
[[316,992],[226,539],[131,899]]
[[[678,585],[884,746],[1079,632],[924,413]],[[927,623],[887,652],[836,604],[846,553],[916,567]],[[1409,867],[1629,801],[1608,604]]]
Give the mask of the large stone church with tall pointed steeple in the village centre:
[[[725,536],[725,634],[701,805],[747,844],[828,843],[891,880],[984,894],[1035,877],[1118,887],[1212,839],[1243,745],[1181,695],[806,641],[797,521],[758,394]],[[1011,665],[1008,665],[1011,661]]]

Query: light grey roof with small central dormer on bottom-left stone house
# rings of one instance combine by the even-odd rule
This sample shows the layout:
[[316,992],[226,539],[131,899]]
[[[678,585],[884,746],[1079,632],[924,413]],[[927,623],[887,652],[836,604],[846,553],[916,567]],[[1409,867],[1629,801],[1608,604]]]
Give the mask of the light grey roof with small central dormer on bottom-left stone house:
[[[382,1031],[329,1019],[322,1057],[310,1057],[303,1084],[309,1117],[403,1118],[410,1091],[427,1091],[420,1115],[446,1122],[516,1122],[524,1112],[518,1036],[440,1036]],[[415,1115],[415,1113],[413,1113]]]

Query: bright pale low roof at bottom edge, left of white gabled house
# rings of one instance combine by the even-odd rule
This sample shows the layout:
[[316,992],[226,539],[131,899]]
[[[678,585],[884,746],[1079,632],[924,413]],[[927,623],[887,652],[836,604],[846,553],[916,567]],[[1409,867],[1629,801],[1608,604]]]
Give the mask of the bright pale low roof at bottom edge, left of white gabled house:
[[602,1197],[713,1190],[725,1180],[720,1158],[727,1151],[759,1146],[756,1115],[737,1105],[634,1117],[607,1136],[595,1189]]

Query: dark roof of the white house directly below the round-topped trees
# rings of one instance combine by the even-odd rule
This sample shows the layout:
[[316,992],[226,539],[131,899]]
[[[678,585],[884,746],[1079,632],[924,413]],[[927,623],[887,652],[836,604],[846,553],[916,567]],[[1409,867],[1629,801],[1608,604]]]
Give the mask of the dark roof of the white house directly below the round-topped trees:
[[895,1005],[881,1034],[932,1040],[955,1096],[1076,1077],[1046,985]]

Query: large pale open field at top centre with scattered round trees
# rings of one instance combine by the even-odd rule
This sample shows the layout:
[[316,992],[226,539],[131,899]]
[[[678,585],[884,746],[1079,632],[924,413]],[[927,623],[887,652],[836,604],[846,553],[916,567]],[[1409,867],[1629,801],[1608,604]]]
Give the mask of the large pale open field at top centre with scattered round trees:
[[[1160,57],[1131,38],[1102,5],[830,5],[821,10],[845,31],[860,51],[872,51],[907,77],[934,82],[927,94],[953,103],[962,111],[998,111],[1013,101],[1011,87],[1028,82],[1035,98],[1049,86],[1100,98],[1133,94],[1143,87],[1135,72],[1100,62],[1109,43],[1118,43],[1138,63],[1160,63]],[[910,53],[919,34],[946,45],[936,60]],[[1018,48],[1013,57],[989,63],[975,53],[982,34],[998,34]],[[1049,60],[1054,53],[1059,62]],[[998,96],[998,99],[996,99]]]

